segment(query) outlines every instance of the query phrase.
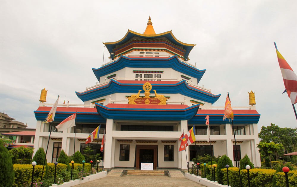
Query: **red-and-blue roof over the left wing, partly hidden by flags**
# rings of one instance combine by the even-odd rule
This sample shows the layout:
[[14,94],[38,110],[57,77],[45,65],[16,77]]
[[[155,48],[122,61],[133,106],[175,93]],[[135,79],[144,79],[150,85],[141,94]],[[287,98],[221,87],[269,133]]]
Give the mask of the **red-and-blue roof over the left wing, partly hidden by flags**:
[[[44,121],[50,109],[52,107],[38,107],[34,111],[35,118],[37,121]],[[106,120],[98,114],[96,108],[85,108],[85,107],[57,107],[54,123],[60,123],[70,115],[76,114],[76,122],[83,123],[88,121],[89,123],[105,123]]]

